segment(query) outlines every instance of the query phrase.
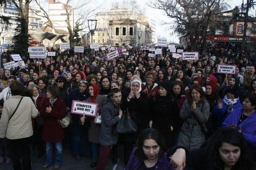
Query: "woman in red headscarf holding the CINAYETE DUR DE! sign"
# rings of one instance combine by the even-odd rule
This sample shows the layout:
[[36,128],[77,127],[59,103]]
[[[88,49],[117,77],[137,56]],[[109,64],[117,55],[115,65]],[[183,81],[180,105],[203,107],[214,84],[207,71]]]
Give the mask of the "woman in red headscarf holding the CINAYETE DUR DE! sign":
[[[86,99],[86,102],[97,103],[98,110],[97,113],[101,114],[101,108],[106,101],[106,96],[100,95],[100,88],[96,84],[90,84],[88,87],[90,98]],[[86,117],[90,119],[90,126],[88,127],[88,139],[92,143],[92,164],[91,168],[94,168],[98,162],[100,155],[100,143],[99,143],[99,133],[100,133],[100,124],[94,123],[95,117]],[[84,119],[81,118],[81,121],[84,122]]]

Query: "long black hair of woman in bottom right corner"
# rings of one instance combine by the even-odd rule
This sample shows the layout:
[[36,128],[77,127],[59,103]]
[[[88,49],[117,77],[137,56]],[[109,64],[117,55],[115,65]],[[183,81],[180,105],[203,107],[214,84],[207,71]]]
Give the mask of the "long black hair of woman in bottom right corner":
[[203,146],[205,147],[207,170],[222,170],[224,162],[220,158],[219,148],[223,143],[228,143],[240,148],[240,157],[232,170],[251,170],[255,169],[255,162],[247,150],[247,144],[242,135],[231,127],[221,127]]

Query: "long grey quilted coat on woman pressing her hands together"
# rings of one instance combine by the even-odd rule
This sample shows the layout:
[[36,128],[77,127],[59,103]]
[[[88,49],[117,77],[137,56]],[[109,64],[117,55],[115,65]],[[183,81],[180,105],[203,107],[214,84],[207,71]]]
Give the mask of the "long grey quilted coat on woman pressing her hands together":
[[205,141],[204,133],[199,123],[206,123],[210,115],[210,106],[206,99],[198,103],[194,111],[191,104],[185,100],[180,109],[180,118],[184,120],[178,137],[178,145],[187,147],[189,150],[198,149]]

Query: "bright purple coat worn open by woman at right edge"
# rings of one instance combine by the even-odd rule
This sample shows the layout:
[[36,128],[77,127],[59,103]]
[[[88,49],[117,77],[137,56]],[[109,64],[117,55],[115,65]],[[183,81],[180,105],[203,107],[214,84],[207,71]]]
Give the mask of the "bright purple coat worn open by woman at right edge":
[[[234,109],[225,121],[222,123],[222,126],[230,127],[230,125],[238,125],[238,121],[243,114],[244,109],[238,108]],[[238,125],[242,129],[242,135],[245,141],[256,148],[256,111],[247,117],[242,123]]]

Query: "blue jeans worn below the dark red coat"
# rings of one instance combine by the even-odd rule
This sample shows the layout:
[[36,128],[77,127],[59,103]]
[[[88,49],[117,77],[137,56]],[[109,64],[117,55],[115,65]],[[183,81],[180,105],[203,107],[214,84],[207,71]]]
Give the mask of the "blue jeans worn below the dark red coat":
[[[45,142],[46,143],[46,161],[45,164],[50,166],[54,161],[55,166],[61,166],[62,164],[62,141],[52,143],[52,142]],[[52,160],[52,145],[55,145],[55,158]]]

